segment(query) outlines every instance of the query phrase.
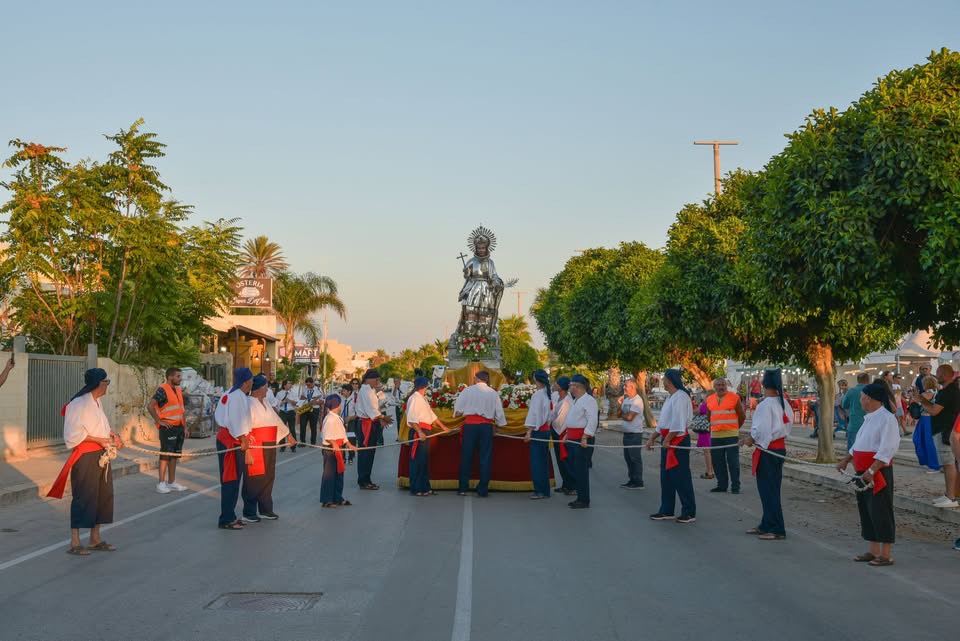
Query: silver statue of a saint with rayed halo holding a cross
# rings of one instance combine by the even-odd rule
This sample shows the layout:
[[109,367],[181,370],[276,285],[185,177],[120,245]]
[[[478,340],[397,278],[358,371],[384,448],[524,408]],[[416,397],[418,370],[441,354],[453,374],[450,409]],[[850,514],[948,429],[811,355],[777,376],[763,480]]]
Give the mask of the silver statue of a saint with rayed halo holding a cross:
[[471,336],[478,329],[493,335],[497,331],[497,315],[503,297],[503,280],[490,258],[497,246],[497,237],[492,231],[477,227],[467,237],[467,247],[473,258],[463,265],[463,287],[458,301],[461,305],[457,333]]

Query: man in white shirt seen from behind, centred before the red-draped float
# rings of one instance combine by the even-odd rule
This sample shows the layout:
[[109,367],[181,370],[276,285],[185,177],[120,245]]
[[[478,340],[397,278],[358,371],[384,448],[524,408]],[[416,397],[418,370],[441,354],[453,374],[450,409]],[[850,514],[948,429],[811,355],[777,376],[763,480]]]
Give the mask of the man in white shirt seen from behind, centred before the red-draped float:
[[477,496],[486,497],[493,470],[493,426],[502,427],[507,424],[500,394],[490,387],[490,374],[483,370],[474,374],[473,385],[457,397],[453,414],[464,417],[457,494],[466,496],[470,490],[473,457],[479,450],[480,479],[477,482]]

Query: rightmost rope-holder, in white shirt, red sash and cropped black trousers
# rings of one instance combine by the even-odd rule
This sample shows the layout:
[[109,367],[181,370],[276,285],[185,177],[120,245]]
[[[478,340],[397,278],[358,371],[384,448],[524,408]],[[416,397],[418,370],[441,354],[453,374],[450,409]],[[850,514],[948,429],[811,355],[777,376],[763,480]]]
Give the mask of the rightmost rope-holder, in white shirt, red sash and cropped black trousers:
[[890,555],[896,536],[893,519],[893,456],[900,447],[900,427],[890,410],[886,385],[871,383],[863,388],[860,404],[867,415],[847,456],[837,463],[841,472],[853,461],[853,469],[863,483],[873,487],[857,492],[860,531],[870,542],[870,551],[854,561],[873,566],[893,565]]

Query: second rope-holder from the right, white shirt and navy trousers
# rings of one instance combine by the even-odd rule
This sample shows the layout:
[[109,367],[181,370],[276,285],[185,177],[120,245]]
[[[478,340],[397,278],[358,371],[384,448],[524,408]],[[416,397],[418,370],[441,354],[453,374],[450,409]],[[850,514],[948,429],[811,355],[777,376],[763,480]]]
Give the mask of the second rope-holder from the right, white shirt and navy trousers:
[[750,436],[744,440],[746,445],[756,446],[753,475],[757,477],[763,516],[760,525],[747,530],[747,534],[756,534],[763,541],[780,541],[787,538],[780,502],[783,459],[768,452],[786,455],[793,409],[783,398],[783,375],[779,369],[768,369],[763,373],[763,394],[763,400],[753,412]]

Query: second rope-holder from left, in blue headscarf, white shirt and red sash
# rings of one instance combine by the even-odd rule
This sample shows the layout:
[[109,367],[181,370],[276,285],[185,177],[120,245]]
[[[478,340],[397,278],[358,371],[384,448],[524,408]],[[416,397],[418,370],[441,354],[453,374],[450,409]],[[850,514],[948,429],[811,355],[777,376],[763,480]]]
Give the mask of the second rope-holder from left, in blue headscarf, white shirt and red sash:
[[[253,388],[253,372],[238,367],[233,372],[233,387],[220,398],[213,418],[220,425],[217,432],[217,458],[220,462],[220,519],[221,530],[242,530],[237,518],[237,499],[247,465],[254,462],[248,449],[250,434],[250,403],[247,394]],[[237,456],[240,448],[243,456]],[[227,451],[232,450],[232,451]]]

